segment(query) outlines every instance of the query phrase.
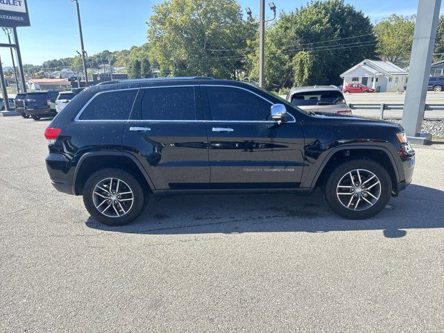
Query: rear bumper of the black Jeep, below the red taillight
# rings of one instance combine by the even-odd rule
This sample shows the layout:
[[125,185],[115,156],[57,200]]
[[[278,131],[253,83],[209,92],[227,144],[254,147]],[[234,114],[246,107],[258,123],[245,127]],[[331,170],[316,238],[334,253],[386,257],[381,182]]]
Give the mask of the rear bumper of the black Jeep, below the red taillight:
[[74,195],[71,167],[68,165],[67,157],[60,154],[49,154],[46,156],[45,162],[53,187],[62,193]]

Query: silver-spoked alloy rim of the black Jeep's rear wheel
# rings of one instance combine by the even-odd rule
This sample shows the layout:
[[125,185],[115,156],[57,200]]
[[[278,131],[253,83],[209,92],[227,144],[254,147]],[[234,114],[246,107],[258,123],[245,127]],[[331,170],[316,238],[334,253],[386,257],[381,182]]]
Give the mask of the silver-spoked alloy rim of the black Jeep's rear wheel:
[[101,214],[117,218],[130,212],[134,194],[130,186],[119,178],[105,178],[97,182],[92,192],[96,210]]

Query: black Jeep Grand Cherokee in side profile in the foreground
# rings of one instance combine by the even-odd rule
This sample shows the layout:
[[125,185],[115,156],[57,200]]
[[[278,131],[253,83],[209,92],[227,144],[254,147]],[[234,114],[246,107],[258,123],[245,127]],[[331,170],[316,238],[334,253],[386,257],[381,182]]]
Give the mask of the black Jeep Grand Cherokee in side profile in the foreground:
[[401,126],[298,109],[230,80],[122,80],[81,92],[46,128],[54,187],[94,219],[133,221],[149,195],[321,187],[348,219],[382,211],[411,182]]

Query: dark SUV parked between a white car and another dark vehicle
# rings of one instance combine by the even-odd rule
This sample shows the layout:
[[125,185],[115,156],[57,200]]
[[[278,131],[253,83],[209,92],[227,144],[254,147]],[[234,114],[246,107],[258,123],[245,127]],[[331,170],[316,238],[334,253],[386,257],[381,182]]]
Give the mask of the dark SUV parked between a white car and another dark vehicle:
[[28,92],[25,97],[25,114],[34,120],[42,117],[53,117],[56,112],[56,99],[58,92],[49,90],[47,92]]

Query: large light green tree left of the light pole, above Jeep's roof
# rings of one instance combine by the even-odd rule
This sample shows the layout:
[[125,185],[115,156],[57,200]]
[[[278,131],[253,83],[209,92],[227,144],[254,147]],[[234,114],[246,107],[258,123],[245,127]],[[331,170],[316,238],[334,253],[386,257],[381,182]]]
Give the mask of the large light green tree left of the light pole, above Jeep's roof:
[[167,0],[148,22],[151,60],[174,76],[239,78],[254,35],[232,0]]

